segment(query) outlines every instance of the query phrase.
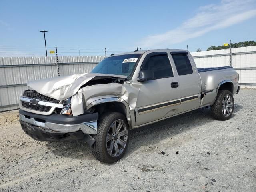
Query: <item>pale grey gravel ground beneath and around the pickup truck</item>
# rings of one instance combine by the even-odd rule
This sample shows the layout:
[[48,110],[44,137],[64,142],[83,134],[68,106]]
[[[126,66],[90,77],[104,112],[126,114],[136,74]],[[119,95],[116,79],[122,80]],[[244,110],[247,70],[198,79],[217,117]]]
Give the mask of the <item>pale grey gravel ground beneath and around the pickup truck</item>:
[[132,130],[114,164],[95,160],[84,142],[35,141],[18,110],[0,113],[0,191],[255,192],[256,90],[234,99],[225,122],[203,108]]

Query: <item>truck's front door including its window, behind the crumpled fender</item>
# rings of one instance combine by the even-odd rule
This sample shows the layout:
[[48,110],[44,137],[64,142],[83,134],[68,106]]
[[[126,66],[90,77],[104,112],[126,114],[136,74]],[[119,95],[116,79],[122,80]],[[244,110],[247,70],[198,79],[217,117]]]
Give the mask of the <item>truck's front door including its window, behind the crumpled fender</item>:
[[148,54],[142,63],[141,70],[151,70],[154,78],[141,82],[135,110],[136,125],[178,113],[180,86],[178,86],[178,77],[173,74],[168,54],[166,52]]

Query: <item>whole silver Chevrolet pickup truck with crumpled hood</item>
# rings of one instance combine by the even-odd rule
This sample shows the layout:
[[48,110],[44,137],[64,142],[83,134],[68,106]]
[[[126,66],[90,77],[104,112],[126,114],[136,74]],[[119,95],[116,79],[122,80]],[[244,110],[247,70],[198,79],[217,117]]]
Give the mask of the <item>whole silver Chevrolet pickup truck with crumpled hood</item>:
[[20,124],[35,140],[86,140],[96,159],[112,163],[131,129],[207,106],[228,120],[238,80],[230,66],[196,68],[185,50],[112,54],[90,73],[28,82]]

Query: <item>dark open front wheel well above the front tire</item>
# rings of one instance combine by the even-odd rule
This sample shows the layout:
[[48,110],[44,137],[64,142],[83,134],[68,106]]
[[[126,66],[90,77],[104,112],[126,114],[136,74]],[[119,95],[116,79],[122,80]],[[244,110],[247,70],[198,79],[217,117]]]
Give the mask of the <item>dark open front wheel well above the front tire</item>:
[[119,112],[126,117],[126,106],[122,102],[107,102],[98,104],[92,107],[94,112],[98,112],[99,115],[106,112]]

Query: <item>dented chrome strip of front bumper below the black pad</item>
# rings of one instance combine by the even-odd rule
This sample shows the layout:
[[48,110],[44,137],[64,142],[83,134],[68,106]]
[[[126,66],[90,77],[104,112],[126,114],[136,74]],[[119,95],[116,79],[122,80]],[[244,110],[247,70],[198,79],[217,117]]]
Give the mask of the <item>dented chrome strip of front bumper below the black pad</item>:
[[56,124],[51,122],[40,122],[34,118],[26,118],[25,115],[19,114],[20,121],[28,124],[41,127],[45,130],[52,130],[56,132],[71,133],[81,130],[84,134],[97,134],[97,120],[90,122],[83,122],[80,124]]

